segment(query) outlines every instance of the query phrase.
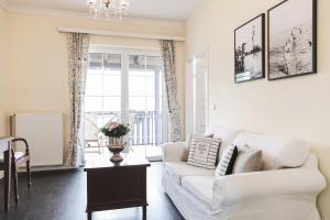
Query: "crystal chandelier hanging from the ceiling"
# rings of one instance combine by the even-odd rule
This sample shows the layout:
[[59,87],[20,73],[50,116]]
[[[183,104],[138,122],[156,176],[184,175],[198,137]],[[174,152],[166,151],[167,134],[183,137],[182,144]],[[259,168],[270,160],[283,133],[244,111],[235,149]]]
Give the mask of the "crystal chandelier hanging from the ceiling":
[[94,18],[105,15],[108,19],[111,16],[128,15],[128,10],[130,7],[129,0],[87,0],[87,6],[89,8],[89,13],[94,14]]

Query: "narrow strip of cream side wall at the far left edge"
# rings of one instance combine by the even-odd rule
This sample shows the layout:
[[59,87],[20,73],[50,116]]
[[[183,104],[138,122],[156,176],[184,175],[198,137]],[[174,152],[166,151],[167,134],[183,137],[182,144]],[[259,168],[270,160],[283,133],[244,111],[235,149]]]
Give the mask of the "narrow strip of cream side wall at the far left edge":
[[0,136],[6,135],[7,12],[0,7]]

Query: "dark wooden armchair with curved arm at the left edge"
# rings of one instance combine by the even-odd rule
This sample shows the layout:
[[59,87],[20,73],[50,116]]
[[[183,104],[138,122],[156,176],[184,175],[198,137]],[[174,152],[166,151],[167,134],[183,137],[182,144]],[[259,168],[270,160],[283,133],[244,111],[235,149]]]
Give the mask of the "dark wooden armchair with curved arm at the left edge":
[[[28,174],[28,188],[31,189],[31,169],[30,169],[30,150],[29,144],[25,139],[13,139],[12,143],[23,142],[25,145],[25,152],[14,152],[11,150],[11,177],[14,191],[15,205],[19,205],[19,194],[18,194],[18,166],[22,163],[26,163],[26,174]],[[3,160],[0,158],[0,167]]]

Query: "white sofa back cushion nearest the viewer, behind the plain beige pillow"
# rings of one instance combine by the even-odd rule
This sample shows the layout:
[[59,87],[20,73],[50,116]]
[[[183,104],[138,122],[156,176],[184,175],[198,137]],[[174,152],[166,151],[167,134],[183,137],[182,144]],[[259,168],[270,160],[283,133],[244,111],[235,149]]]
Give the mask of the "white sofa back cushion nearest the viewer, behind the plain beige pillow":
[[243,132],[233,141],[238,147],[248,144],[263,152],[263,169],[299,167],[309,156],[310,146],[300,139],[261,135]]

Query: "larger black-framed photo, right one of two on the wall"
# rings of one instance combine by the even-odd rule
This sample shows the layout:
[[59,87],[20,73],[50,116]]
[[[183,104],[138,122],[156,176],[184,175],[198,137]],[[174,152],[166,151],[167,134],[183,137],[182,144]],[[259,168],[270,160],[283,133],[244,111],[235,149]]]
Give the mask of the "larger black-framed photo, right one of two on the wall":
[[286,0],[268,10],[268,79],[317,73],[317,1]]

